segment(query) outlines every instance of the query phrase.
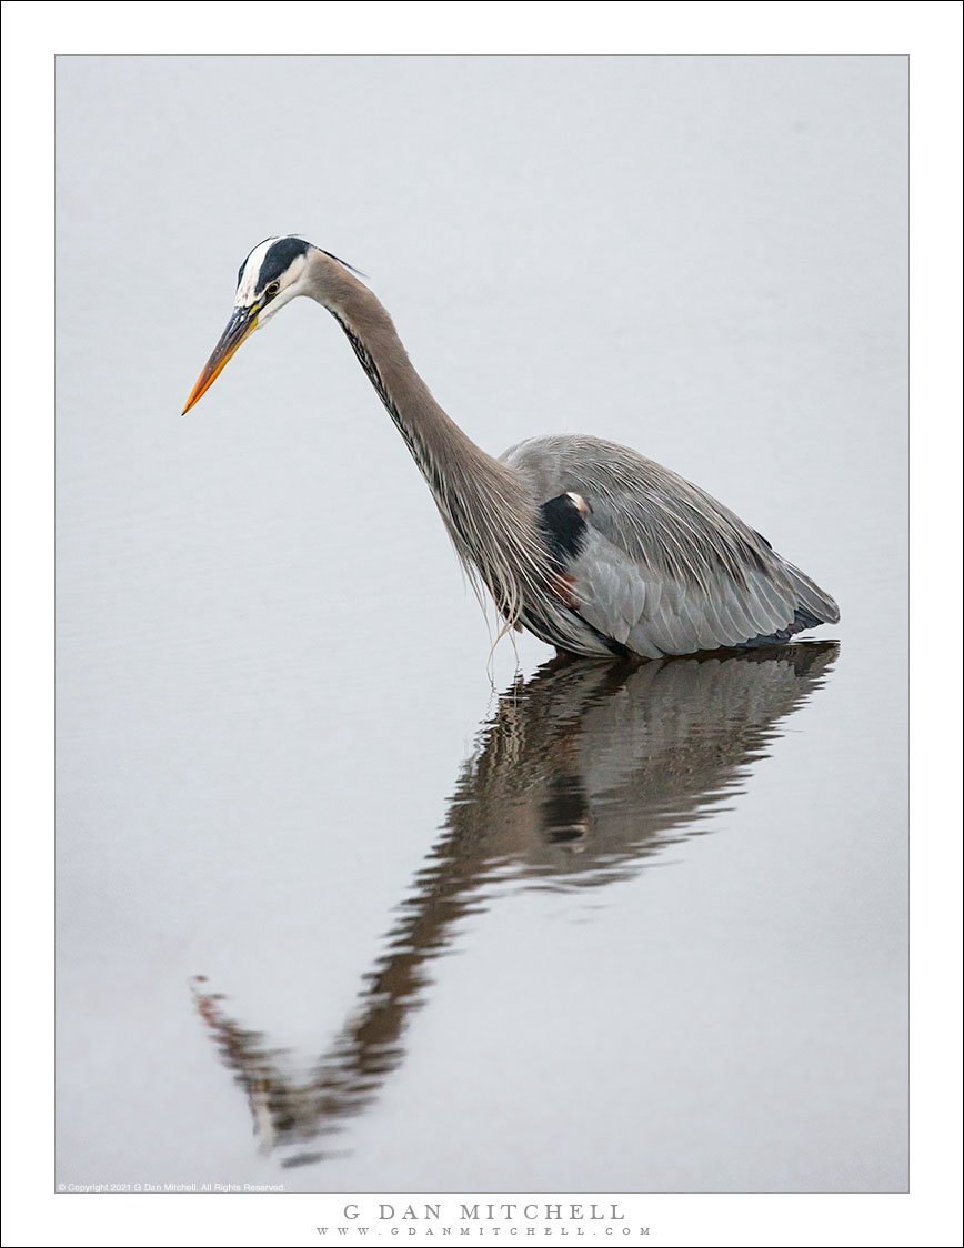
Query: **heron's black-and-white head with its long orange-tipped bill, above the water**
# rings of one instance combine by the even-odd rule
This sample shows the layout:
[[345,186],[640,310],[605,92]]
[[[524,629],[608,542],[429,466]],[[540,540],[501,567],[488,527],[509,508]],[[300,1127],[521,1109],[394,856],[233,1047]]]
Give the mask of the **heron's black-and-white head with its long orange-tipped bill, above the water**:
[[245,338],[268,321],[288,300],[307,293],[306,266],[311,243],[288,235],[265,238],[247,256],[237,272],[235,310],[211,358],[191,391],[189,412],[234,356]]

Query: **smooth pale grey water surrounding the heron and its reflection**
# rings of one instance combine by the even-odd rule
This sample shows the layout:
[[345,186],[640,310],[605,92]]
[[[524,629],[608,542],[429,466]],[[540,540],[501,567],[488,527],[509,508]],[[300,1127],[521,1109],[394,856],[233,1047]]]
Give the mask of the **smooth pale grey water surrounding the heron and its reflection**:
[[[57,60],[57,1179],[905,1186],[905,87],[903,57]],[[714,835],[591,890],[509,864],[296,1169],[191,977],[303,1073],[514,655],[307,301],[180,418],[282,232],[370,275],[487,449],[634,446],[843,612]]]

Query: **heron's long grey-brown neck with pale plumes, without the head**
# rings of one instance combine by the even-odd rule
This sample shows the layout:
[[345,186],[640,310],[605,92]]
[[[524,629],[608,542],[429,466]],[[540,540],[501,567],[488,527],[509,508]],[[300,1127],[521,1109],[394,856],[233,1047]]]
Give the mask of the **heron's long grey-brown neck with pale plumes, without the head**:
[[482,580],[509,624],[523,617],[566,619],[558,570],[524,482],[477,447],[436,403],[367,286],[325,252],[313,252],[311,262],[312,296],[345,331],[428,483],[473,583]]

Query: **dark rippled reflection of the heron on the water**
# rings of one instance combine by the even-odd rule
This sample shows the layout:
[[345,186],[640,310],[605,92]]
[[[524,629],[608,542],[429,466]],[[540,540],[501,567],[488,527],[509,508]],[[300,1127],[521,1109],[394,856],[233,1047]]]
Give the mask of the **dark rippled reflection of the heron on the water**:
[[243,1087],[262,1147],[318,1161],[405,1058],[406,1021],[458,921],[506,889],[598,889],[709,830],[784,720],[819,688],[835,643],[639,666],[551,663],[496,706],[441,835],[397,907],[355,1008],[302,1076],[241,1026],[204,977],[199,1012]]

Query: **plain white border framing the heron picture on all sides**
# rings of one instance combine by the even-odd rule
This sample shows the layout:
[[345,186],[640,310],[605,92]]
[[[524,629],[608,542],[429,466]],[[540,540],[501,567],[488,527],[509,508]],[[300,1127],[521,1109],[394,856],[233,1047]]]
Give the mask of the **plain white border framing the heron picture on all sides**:
[[[52,962],[52,57],[283,54],[292,50],[292,30],[298,31],[298,47],[316,47],[326,55],[848,52],[912,57],[912,653],[917,668],[912,688],[917,841],[912,1193],[607,1199],[639,1211],[642,1224],[652,1227],[649,1242],[654,1244],[960,1243],[954,1229],[960,1137],[952,1117],[960,1104],[960,962],[955,955],[960,805],[954,782],[960,775],[960,733],[958,708],[948,703],[960,684],[957,630],[962,618],[955,570],[960,567],[962,327],[955,285],[960,275],[960,16],[957,2],[920,0],[873,5],[4,4],[4,1243],[317,1242],[315,1227],[325,1217],[331,1224],[343,1204],[330,1196],[81,1199],[57,1198],[52,1192],[47,982]],[[25,257],[26,273],[19,267]],[[82,316],[82,310],[76,311]],[[880,618],[887,628],[887,604]],[[895,659],[897,669],[899,651]],[[882,679],[899,679],[899,670],[882,673]],[[481,1193],[472,1197],[481,1198]]]

